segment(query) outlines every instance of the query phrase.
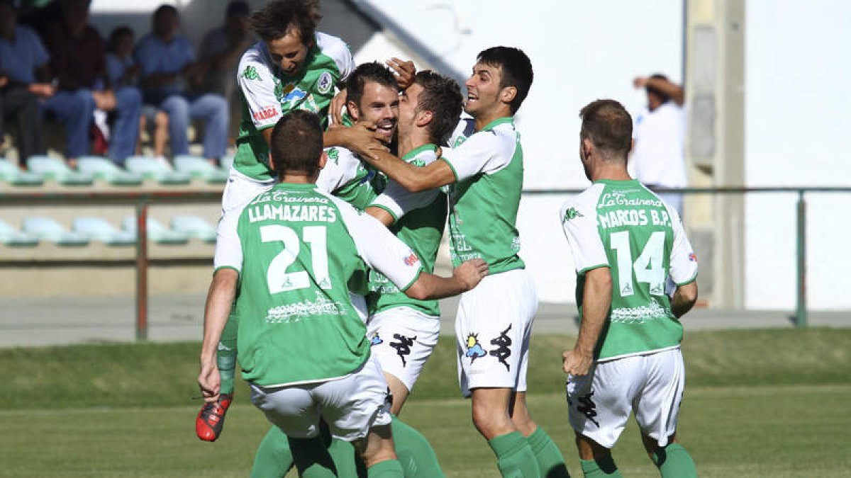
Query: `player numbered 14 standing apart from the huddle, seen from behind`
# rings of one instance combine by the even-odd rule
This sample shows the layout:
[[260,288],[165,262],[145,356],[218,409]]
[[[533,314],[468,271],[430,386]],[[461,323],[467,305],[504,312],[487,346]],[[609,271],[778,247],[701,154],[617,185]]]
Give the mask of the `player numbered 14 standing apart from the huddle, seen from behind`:
[[620,476],[611,448],[632,412],[663,477],[697,476],[677,443],[685,383],[679,318],[697,300],[697,259],[676,209],[627,173],[629,113],[617,101],[597,100],[580,117],[580,159],[594,184],[560,215],[582,317],[574,349],[563,354],[582,471]]

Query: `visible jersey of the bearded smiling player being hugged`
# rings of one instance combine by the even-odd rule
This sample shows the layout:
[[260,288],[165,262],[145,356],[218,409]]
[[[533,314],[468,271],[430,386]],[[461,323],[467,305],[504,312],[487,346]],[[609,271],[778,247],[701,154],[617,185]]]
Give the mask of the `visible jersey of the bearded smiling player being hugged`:
[[325,153],[328,162],[319,172],[319,191],[333,194],[361,211],[384,191],[386,176],[360,156],[340,146],[328,148]]

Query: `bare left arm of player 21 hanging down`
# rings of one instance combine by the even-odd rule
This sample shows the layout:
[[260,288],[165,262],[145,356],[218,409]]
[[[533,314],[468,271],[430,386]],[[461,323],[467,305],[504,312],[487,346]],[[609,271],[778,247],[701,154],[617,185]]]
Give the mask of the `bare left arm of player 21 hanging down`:
[[221,333],[225,329],[227,316],[237,292],[239,273],[231,268],[215,271],[213,281],[207,293],[204,305],[204,339],[201,345],[201,372],[198,373],[198,386],[204,401],[219,400],[221,377],[216,367],[216,350]]

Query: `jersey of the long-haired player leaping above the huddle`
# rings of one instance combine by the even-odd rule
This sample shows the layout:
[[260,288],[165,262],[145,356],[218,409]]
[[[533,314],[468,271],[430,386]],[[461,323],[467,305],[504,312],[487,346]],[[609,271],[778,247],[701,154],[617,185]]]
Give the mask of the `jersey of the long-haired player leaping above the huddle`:
[[346,43],[320,32],[305,61],[298,76],[288,77],[271,60],[264,42],[248,48],[239,60],[237,83],[243,119],[233,168],[248,178],[268,181],[275,177],[269,168],[269,146],[260,132],[295,110],[319,113],[327,121],[334,88],[345,82],[355,67]]

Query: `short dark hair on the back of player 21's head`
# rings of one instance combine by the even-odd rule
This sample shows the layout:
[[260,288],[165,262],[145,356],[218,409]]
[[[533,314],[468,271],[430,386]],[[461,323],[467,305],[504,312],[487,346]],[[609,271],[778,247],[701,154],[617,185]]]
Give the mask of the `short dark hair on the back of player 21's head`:
[[317,174],[322,147],[323,129],[316,113],[296,110],[282,117],[271,132],[271,160],[277,178],[286,173]]

